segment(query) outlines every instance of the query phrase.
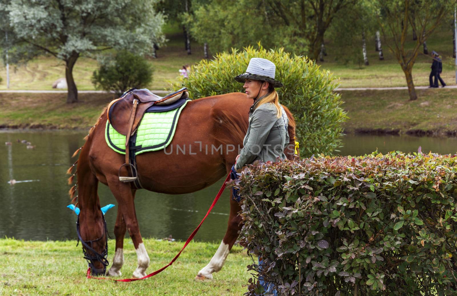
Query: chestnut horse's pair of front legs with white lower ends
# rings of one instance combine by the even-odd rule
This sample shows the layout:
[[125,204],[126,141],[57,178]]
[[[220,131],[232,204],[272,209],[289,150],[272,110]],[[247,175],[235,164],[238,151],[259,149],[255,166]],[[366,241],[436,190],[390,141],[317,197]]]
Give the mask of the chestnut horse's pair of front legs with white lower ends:
[[[137,269],[133,272],[133,277],[140,278],[146,275],[145,270],[149,266],[149,256],[148,252],[146,251],[146,248],[144,247],[143,239],[141,238],[137,215],[135,213],[135,203],[133,202],[135,191],[131,189],[130,183],[119,182],[117,178],[118,177],[116,175],[111,180],[108,179],[108,186],[110,187],[111,192],[113,193],[114,197],[116,197],[117,203],[119,204],[119,208],[117,209],[117,219],[115,227],[116,254],[114,255],[114,259],[116,259],[116,256],[119,256],[118,258],[121,259],[123,262],[122,247],[125,231],[127,228],[128,234],[132,238],[133,246],[135,247],[135,250],[137,252],[138,259]],[[119,217],[120,213],[122,213],[122,218]],[[119,227],[117,228],[117,226]],[[118,231],[118,233],[116,233],[116,231]],[[120,247],[119,249],[118,246]],[[113,267],[114,264],[115,262],[113,260]],[[122,264],[120,266],[122,266]],[[119,272],[119,270],[117,271]]]

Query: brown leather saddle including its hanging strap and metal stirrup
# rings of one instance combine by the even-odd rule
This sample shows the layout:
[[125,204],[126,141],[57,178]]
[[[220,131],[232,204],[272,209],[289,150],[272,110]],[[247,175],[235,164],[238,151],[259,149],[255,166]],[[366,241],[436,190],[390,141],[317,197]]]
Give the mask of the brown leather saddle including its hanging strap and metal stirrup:
[[[169,93],[165,97],[160,97],[151,93],[148,89],[129,89],[122,94],[119,99],[113,100],[106,109],[108,122],[121,135],[126,136],[125,140],[125,163],[119,168],[118,176],[121,182],[133,182],[137,180],[136,167],[129,161],[129,140],[135,134],[144,113],[149,108],[154,108],[154,112],[160,109],[170,109],[171,105],[179,99],[188,98],[187,88]],[[132,177],[122,177],[121,169],[123,166],[130,167]]]

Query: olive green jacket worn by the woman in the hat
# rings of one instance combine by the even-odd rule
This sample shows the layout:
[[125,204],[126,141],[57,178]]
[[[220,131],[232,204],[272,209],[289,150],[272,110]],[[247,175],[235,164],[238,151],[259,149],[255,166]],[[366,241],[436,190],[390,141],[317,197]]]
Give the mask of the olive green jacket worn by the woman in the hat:
[[244,147],[239,153],[235,170],[257,160],[275,162],[277,157],[282,160],[286,159],[284,147],[289,143],[286,127],[287,115],[283,111],[284,117],[276,118],[274,104],[261,104],[255,109],[256,103],[251,106],[249,111],[248,131],[244,136]]

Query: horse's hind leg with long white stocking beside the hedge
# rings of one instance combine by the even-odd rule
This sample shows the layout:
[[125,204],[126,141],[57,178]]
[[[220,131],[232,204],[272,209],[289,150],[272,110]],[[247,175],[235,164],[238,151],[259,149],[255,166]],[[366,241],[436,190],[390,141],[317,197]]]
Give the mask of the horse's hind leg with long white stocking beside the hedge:
[[[230,169],[229,169],[230,170]],[[216,254],[209,261],[208,265],[202,268],[195,277],[196,280],[212,279],[213,272],[218,272],[222,269],[228,253],[232,249],[236,239],[238,238],[238,231],[241,230],[241,217],[238,212],[241,210],[239,203],[232,199],[230,191],[230,215],[228,217],[228,227],[221,244],[219,245]]]

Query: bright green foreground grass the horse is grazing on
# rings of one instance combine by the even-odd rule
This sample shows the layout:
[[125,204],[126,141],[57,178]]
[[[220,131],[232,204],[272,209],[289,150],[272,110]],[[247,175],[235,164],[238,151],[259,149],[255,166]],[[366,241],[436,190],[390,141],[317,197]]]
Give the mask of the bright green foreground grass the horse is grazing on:
[[[110,240],[110,261],[114,244]],[[151,259],[147,272],[168,264],[184,245],[155,239],[146,239],[144,244]],[[246,265],[252,261],[239,246],[232,249],[214,280],[194,280],[217,248],[218,244],[191,242],[180,258],[159,275],[122,283],[85,279],[87,264],[76,241],[0,239],[0,295],[242,295],[250,277]],[[136,268],[137,256],[130,239],[125,241],[124,255],[122,278],[131,277]]]

